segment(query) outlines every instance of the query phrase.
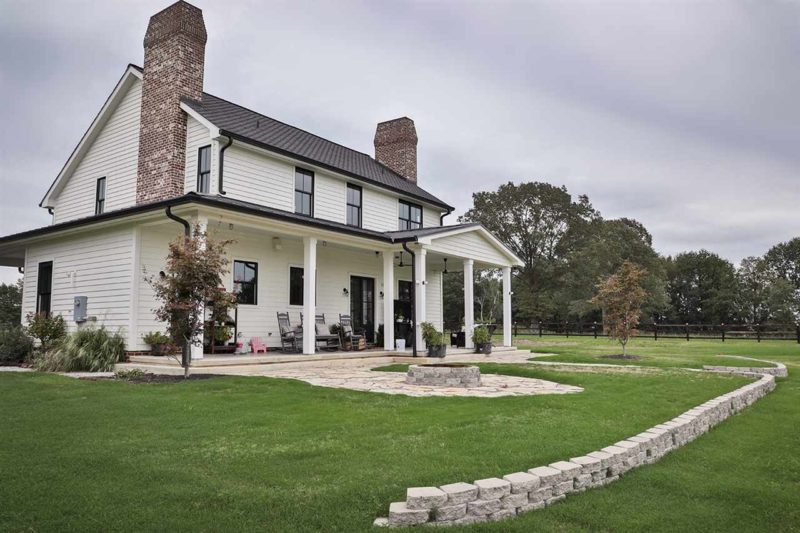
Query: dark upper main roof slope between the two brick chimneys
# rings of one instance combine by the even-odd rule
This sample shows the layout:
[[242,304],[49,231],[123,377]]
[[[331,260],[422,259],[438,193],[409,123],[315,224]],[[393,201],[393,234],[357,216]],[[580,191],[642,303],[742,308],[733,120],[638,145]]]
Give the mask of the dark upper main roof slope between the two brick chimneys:
[[284,124],[250,109],[203,93],[203,100],[186,105],[214,124],[224,135],[277,153],[340,172],[361,181],[442,207],[453,208],[367,154]]

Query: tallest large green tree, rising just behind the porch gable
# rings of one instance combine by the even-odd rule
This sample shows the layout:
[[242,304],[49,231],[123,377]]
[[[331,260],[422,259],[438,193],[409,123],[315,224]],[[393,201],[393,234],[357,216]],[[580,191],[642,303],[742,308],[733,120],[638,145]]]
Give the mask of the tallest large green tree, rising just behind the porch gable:
[[567,259],[599,214],[586,196],[549,183],[506,183],[472,195],[460,222],[480,222],[525,263],[514,276],[519,320],[563,317],[569,306],[560,290]]

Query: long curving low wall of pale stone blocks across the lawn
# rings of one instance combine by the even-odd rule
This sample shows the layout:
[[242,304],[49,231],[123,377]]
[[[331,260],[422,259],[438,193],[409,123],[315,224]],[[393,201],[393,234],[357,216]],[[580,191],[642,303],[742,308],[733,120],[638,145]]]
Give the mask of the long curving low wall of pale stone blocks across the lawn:
[[392,503],[389,516],[377,518],[375,525],[447,526],[503,520],[556,503],[570,493],[608,485],[625,472],[654,463],[693,441],[774,390],[774,371],[783,367],[782,375],[786,375],[786,367],[775,364],[778,366],[774,368],[708,369],[759,379],[602,450],[502,478],[409,488],[406,501]]

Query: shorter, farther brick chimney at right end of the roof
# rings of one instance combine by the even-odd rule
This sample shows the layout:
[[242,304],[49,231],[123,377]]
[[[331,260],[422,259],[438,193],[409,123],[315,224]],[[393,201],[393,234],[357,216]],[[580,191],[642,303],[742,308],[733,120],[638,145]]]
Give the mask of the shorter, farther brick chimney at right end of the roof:
[[408,117],[387,120],[375,130],[375,159],[417,182],[417,130]]

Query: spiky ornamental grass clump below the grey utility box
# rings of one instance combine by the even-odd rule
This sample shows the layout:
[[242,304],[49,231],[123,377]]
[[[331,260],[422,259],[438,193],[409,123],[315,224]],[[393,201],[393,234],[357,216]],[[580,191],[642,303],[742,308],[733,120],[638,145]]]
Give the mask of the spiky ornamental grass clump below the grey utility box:
[[34,360],[45,372],[108,372],[125,356],[125,339],[104,327],[85,328],[64,338]]

